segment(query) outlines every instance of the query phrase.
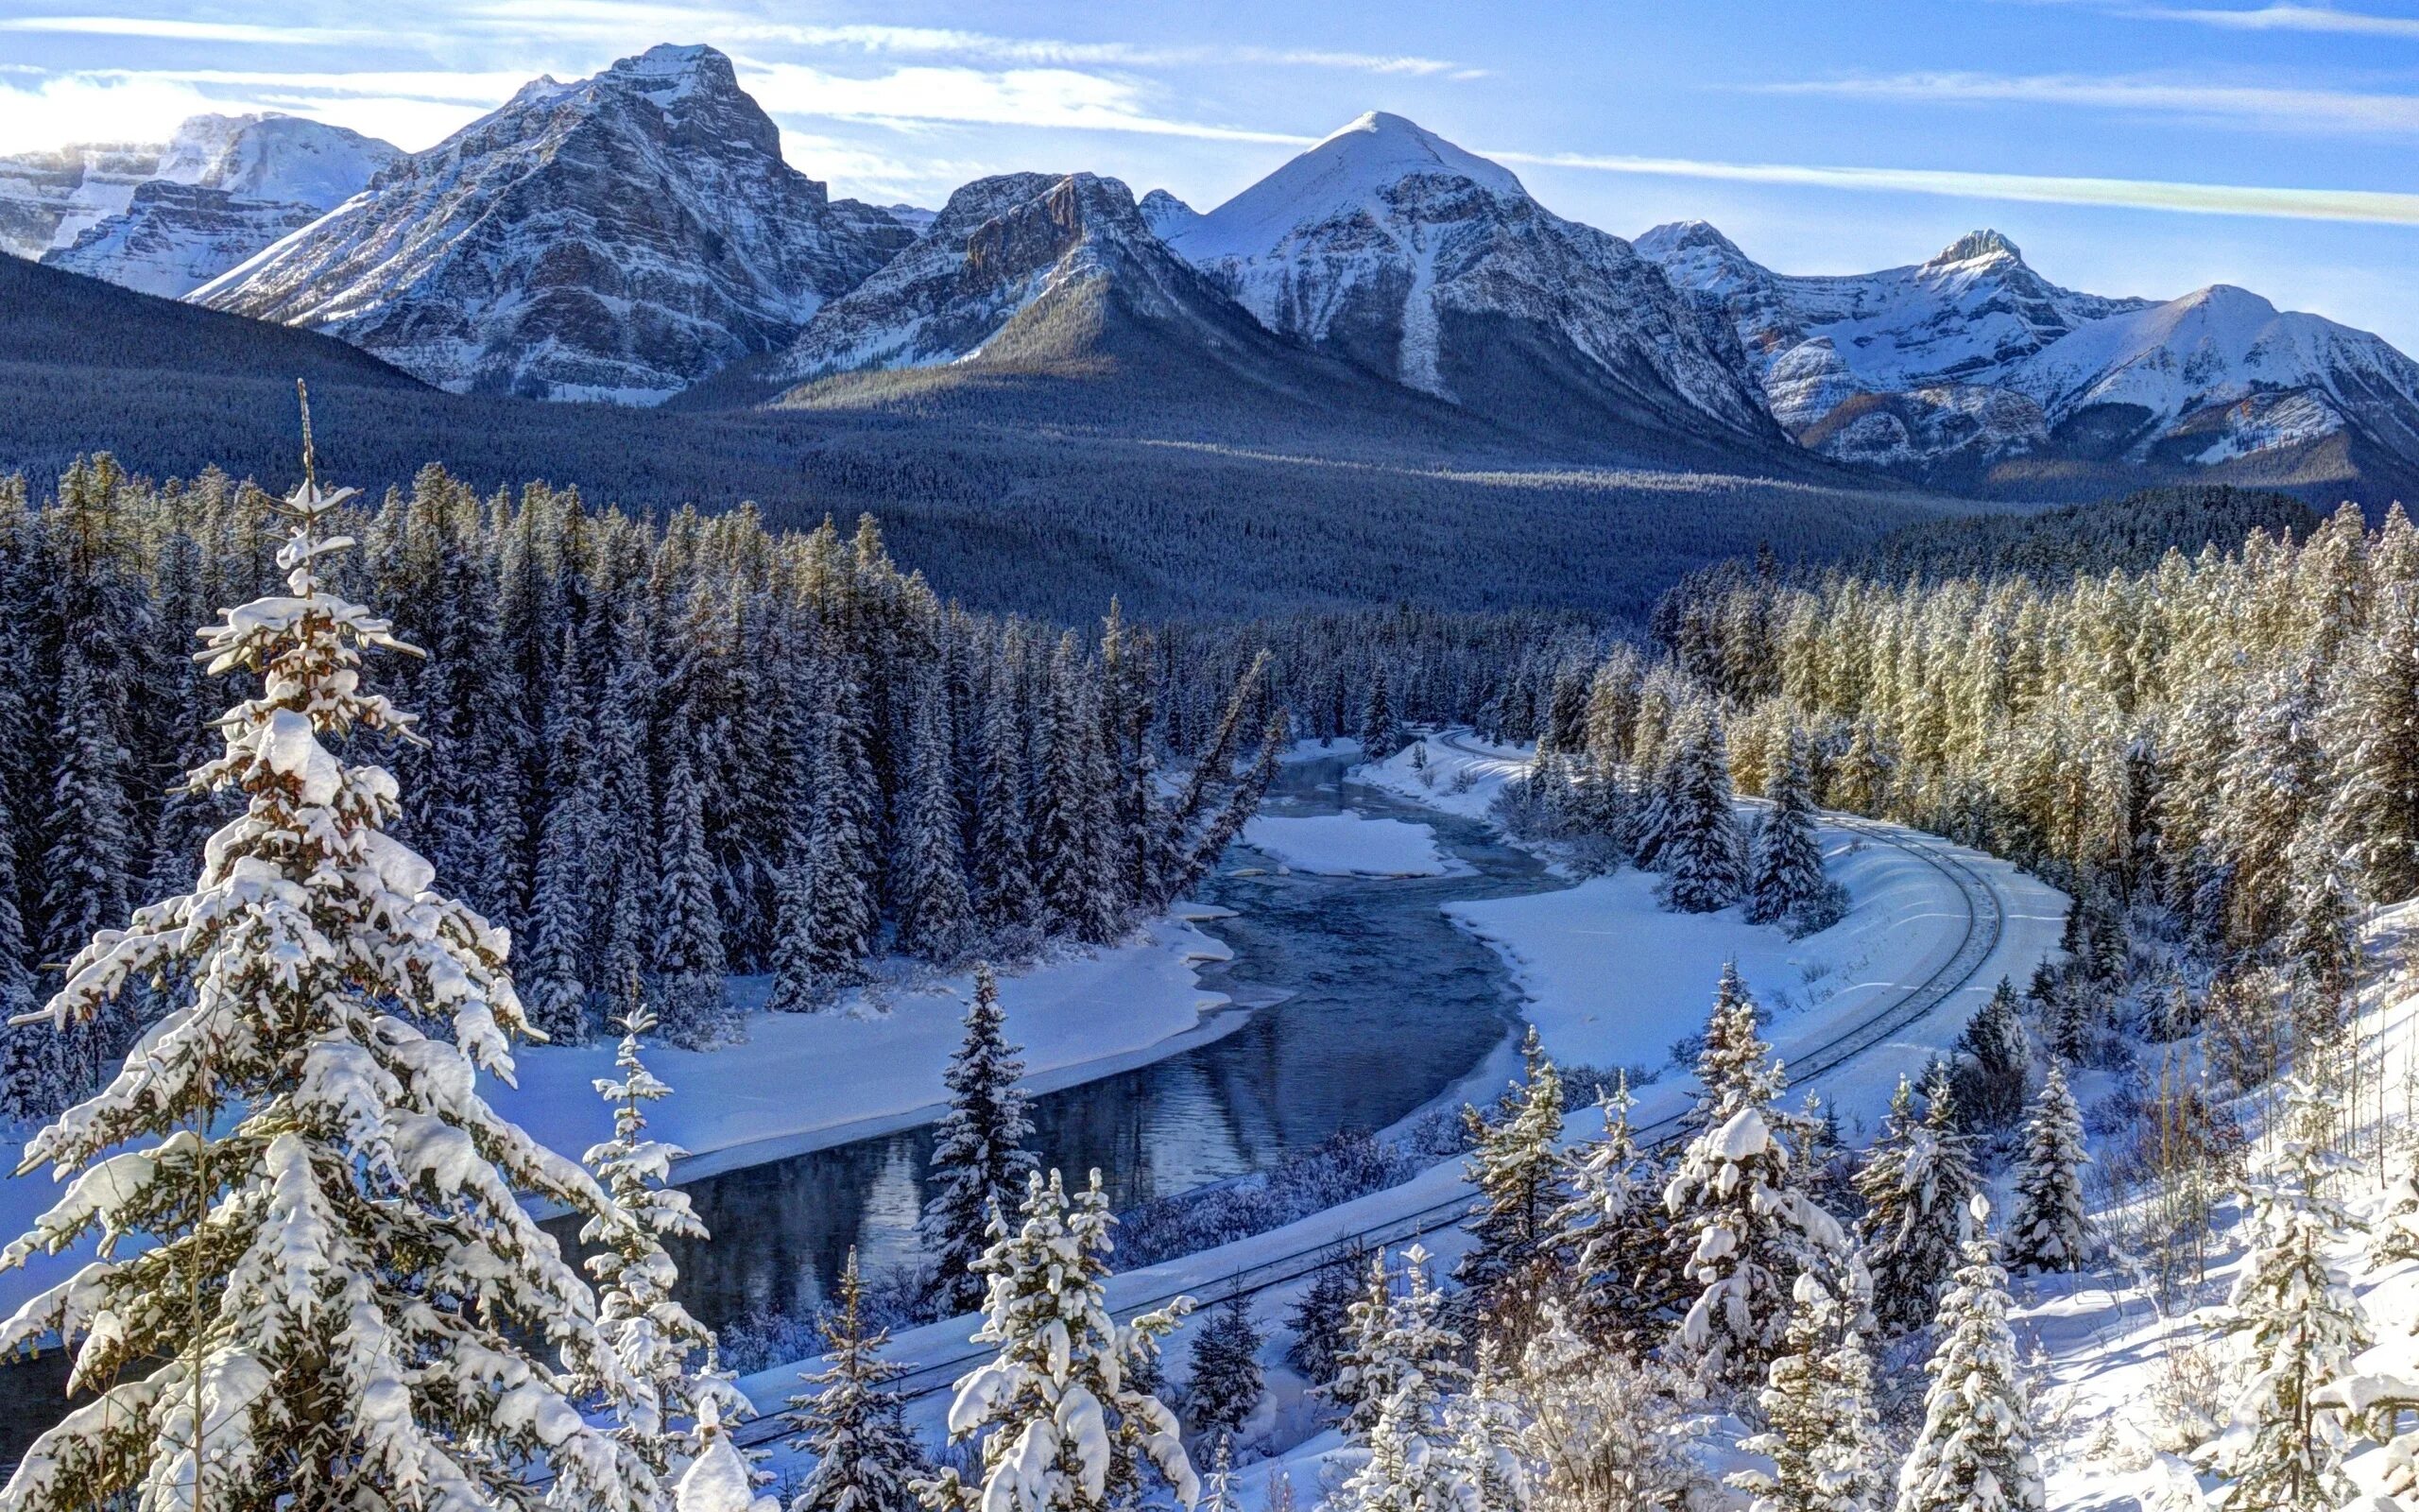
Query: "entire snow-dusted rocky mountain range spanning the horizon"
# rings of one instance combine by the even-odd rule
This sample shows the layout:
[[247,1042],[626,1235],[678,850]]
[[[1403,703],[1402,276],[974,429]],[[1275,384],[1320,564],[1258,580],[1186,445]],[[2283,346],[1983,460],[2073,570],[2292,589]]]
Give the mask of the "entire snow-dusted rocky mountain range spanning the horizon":
[[535,80],[426,152],[203,116],[0,160],[0,240],[464,394],[1420,435],[1979,496],[2419,477],[2419,365],[2247,290],[2078,293],[1988,230],[1776,273],[1705,223],[1565,220],[1389,114],[1205,213],[1086,172],[835,201],[704,46]]

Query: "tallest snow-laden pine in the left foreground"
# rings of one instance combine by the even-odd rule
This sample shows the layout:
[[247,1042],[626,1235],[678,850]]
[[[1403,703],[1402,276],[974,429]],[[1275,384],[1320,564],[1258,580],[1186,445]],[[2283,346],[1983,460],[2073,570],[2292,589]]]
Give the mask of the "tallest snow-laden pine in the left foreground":
[[189,779],[239,791],[244,815],[194,893],[97,934],[46,1009],[80,1023],[131,982],[174,987],[123,1072],[27,1147],[27,1166],[82,1176],[0,1265],[90,1229],[148,1243],[0,1328],[0,1350],[75,1340],[70,1391],[97,1393],[27,1449],[12,1510],[518,1507],[539,1456],[573,1505],[658,1497],[573,1406],[639,1386],[520,1207],[610,1222],[612,1200],[474,1091],[527,1033],[508,941],[385,835],[394,779],[322,743],[411,726],[360,685],[363,646],[404,646],[322,578],[351,544],[322,535],[348,494],[305,467],[285,593],[203,631],[210,673],[264,677]]

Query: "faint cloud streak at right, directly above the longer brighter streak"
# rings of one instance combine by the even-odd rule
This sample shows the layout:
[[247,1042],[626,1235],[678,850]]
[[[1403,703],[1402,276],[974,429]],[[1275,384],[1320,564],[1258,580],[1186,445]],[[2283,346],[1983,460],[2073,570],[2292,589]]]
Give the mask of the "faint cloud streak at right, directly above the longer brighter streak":
[[1754,85],[1761,94],[1831,94],[1969,104],[2046,104],[2242,121],[2281,131],[2419,133],[2419,94],[2201,85],[2153,77],[1901,73]]

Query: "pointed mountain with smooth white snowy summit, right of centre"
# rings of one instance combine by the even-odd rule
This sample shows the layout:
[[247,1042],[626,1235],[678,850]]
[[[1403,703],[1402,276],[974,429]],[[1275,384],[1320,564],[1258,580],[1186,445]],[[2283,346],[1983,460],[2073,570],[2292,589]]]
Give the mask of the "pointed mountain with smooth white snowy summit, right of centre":
[[1727,322],[1502,165],[1367,114],[1207,215],[1149,223],[1275,331],[1480,414],[1778,443]]

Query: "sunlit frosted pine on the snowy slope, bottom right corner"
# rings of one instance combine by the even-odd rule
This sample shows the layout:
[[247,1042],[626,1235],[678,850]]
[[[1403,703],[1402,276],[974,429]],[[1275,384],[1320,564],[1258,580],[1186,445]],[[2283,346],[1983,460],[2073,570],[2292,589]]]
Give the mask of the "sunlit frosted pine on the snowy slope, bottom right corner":
[[2334,1251],[2351,1217],[2334,1178],[2339,1110],[2308,1077],[2286,1089],[2284,1127],[2250,1181],[2252,1251],[2225,1299],[2221,1331],[2240,1340],[2228,1427],[2204,1449],[2225,1481],[2225,1507],[2322,1512],[2344,1505],[2349,1427],[2320,1391],[2368,1347],[2368,1323]]

